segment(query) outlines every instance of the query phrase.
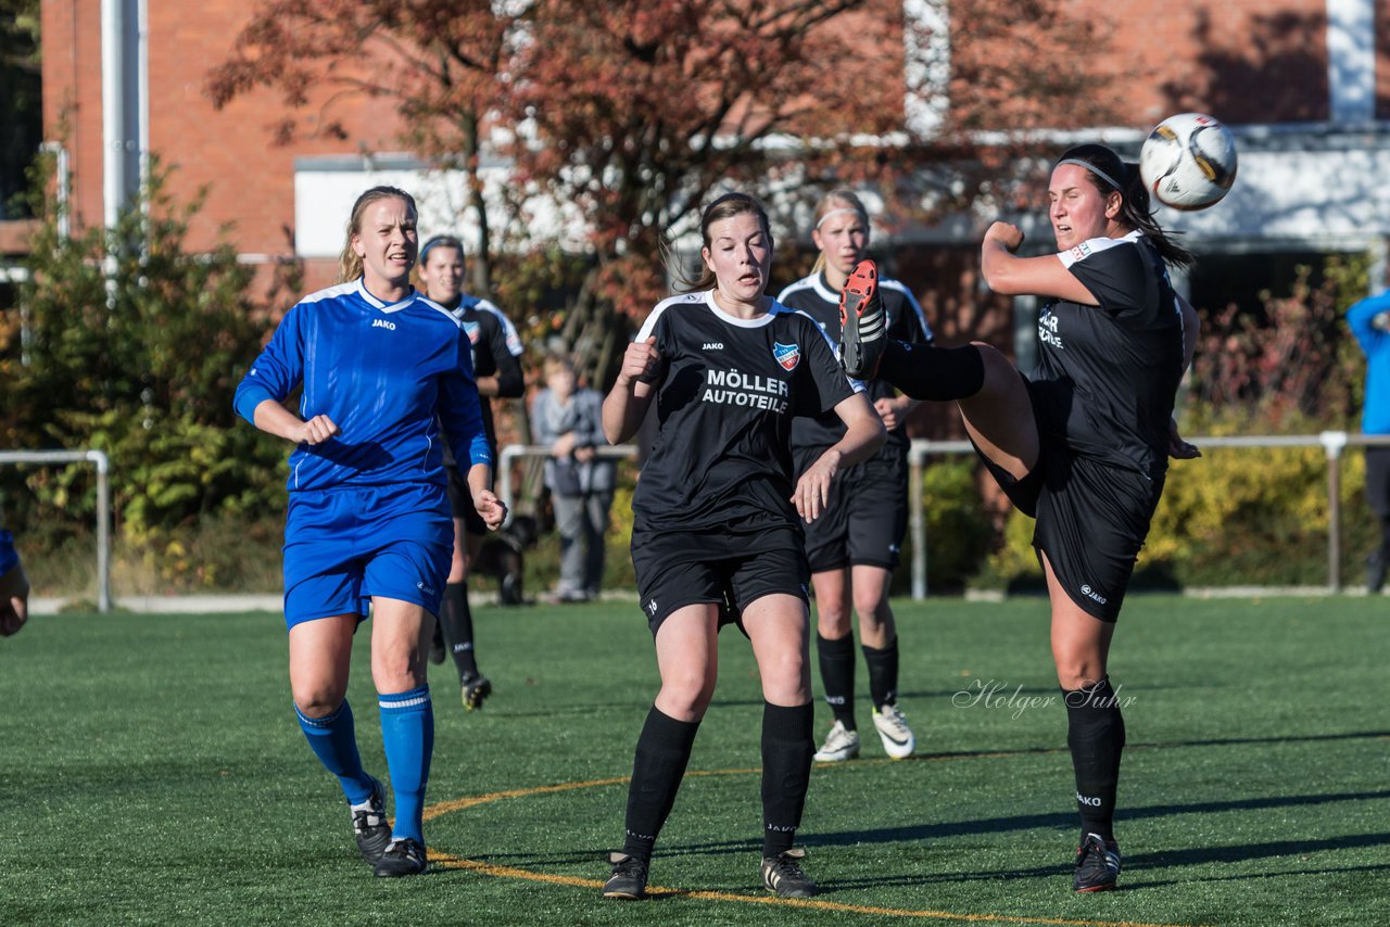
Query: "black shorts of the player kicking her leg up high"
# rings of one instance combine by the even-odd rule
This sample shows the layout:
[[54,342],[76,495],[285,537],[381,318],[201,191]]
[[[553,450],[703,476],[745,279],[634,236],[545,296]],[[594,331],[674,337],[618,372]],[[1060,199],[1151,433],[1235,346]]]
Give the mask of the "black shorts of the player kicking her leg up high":
[[1037,518],[1033,546],[1045,553],[1068,598],[1101,621],[1115,621],[1134,560],[1163,493],[1163,477],[1083,457],[1042,442],[1023,479],[984,459],[1015,506]]

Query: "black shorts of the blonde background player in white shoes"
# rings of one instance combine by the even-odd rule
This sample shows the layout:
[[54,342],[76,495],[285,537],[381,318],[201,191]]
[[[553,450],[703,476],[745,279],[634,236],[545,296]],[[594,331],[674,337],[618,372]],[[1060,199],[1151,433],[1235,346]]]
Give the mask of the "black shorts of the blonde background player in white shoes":
[[[798,478],[824,452],[798,448]],[[908,531],[908,461],[878,456],[837,473],[830,484],[830,504],[802,530],[812,573],[851,566],[892,570]]]

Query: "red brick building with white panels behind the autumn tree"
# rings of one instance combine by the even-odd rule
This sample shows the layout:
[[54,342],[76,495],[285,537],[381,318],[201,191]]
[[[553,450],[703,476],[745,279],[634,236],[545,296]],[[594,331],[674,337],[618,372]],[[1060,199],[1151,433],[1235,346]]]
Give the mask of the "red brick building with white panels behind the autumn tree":
[[[949,17],[951,10],[940,0],[873,6],[890,15],[901,10],[909,19]],[[424,231],[455,225],[452,181],[427,178],[402,154],[402,125],[386,101],[339,103],[335,115],[346,139],[288,146],[272,142],[272,126],[284,115],[274,95],[257,90],[213,108],[204,90],[208,68],[229,54],[247,8],[243,0],[44,0],[44,132],[70,160],[74,222],[101,222],[114,208],[113,190],[128,195],[139,182],[143,156],[153,151],[175,168],[170,186],[178,199],[207,189],[192,247],[210,245],[231,224],[245,261],[300,259],[310,288],[332,279],[346,202],[371,182],[432,190],[423,197]],[[1073,0],[1069,8],[1113,21],[1112,47],[1101,64],[1131,75],[1133,83],[1120,88],[1129,107],[1122,126],[1080,135],[1134,154],[1141,126],[1184,110],[1212,113],[1236,131],[1240,181],[1227,202],[1207,213],[1162,217],[1188,232],[1194,250],[1227,256],[1212,274],[1238,265],[1254,290],[1277,272],[1270,268],[1297,256],[1383,252],[1390,233],[1390,188],[1379,182],[1390,174],[1390,17],[1383,3]],[[965,22],[951,26],[954,40],[969,29]],[[106,83],[104,50],[124,58],[120,75]],[[912,67],[913,50],[906,58]],[[115,103],[122,118],[104,118]],[[931,118],[919,110],[909,104],[908,120]],[[121,183],[111,182],[113,170]],[[505,165],[496,172],[505,175]],[[894,246],[903,267],[919,260],[926,267],[940,249],[973,250],[977,235],[970,222],[947,222],[905,229]],[[19,247],[22,228],[0,228],[0,249]],[[1272,256],[1283,257],[1268,260]],[[910,271],[899,268],[899,275]],[[927,295],[929,311],[933,302]]]

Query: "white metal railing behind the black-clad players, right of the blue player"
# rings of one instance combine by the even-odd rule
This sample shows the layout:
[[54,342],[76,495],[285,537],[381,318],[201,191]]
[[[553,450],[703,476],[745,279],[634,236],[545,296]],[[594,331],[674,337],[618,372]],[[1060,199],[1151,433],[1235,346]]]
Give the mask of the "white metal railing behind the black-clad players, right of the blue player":
[[[1322,448],[1327,456],[1327,589],[1341,588],[1341,453],[1347,448],[1390,446],[1390,435],[1354,435],[1325,431],[1318,435],[1238,435],[1188,438],[1198,448]],[[634,445],[598,448],[605,457],[635,459]],[[917,438],[908,449],[908,532],[912,538],[912,598],[927,598],[927,517],[922,498],[922,468],[933,454],[973,453],[969,441]],[[524,457],[549,457],[545,445],[507,445],[498,461],[498,496],[512,509],[512,466]]]

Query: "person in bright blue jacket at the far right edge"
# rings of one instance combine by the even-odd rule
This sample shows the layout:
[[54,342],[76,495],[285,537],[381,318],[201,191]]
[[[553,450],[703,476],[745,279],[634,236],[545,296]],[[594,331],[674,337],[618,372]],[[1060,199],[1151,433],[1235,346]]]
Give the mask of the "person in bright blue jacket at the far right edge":
[[[1348,309],[1347,324],[1366,354],[1361,432],[1390,435],[1390,290]],[[1366,448],[1366,503],[1380,525],[1380,545],[1366,557],[1366,589],[1380,592],[1390,566],[1390,446]]]

